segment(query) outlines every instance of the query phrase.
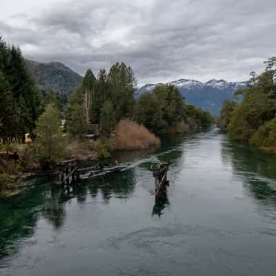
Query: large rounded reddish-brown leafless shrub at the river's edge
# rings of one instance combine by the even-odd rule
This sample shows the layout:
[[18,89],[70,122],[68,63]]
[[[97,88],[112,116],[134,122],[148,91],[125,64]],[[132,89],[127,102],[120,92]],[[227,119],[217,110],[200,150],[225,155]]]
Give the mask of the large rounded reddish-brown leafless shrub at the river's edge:
[[116,126],[116,150],[142,150],[159,145],[160,139],[135,121],[123,119]]

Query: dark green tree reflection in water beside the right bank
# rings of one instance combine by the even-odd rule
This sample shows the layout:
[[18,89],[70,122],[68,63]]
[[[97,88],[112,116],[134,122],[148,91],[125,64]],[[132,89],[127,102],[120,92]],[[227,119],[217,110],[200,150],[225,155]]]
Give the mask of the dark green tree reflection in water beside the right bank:
[[242,177],[246,188],[256,199],[276,201],[276,156],[243,144],[225,140],[221,143],[221,158],[232,164],[235,175]]

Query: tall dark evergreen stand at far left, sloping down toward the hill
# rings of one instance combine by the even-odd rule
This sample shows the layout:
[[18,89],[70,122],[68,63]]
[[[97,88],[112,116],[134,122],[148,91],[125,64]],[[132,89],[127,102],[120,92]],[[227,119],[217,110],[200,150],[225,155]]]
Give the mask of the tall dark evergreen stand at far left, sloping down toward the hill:
[[34,134],[36,121],[48,103],[65,111],[67,97],[39,87],[28,72],[19,47],[9,46],[0,37],[0,139],[3,144],[22,142],[25,133]]

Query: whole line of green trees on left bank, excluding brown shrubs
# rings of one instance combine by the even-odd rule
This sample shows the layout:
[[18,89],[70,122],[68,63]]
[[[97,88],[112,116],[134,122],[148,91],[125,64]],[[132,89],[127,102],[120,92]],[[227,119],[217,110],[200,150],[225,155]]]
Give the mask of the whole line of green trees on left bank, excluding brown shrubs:
[[[91,124],[99,126],[102,139],[108,140],[122,119],[136,121],[156,135],[198,130],[213,122],[209,112],[187,104],[175,86],[157,86],[139,99],[135,99],[136,89],[132,68],[115,63],[108,72],[99,70],[97,77],[88,69],[67,103],[66,95],[36,86],[21,50],[0,39],[1,143],[21,143],[30,133],[41,159],[54,161],[66,137],[78,139]],[[65,134],[61,115],[66,119]]]

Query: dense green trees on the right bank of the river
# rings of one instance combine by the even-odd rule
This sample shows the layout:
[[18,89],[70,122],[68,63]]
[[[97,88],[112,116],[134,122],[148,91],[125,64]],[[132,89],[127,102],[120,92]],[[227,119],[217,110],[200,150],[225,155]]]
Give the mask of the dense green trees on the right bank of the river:
[[275,149],[276,58],[265,63],[266,70],[261,74],[250,72],[248,88],[237,90],[233,101],[224,101],[219,125],[231,139]]

